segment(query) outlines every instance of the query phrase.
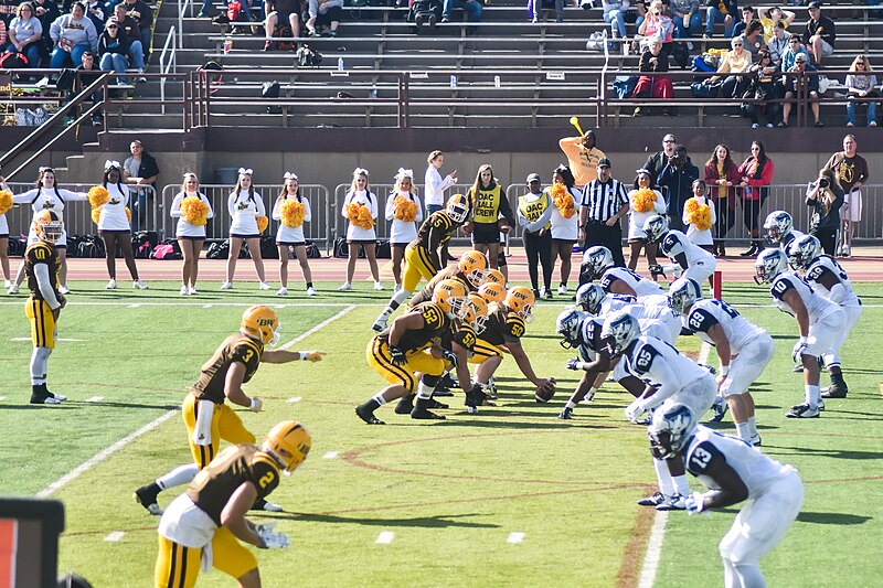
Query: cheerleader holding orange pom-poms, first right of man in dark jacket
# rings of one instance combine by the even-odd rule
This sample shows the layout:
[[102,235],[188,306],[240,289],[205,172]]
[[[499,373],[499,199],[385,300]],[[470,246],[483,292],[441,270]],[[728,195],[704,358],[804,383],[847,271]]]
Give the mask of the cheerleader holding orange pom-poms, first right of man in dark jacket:
[[[181,212],[181,203],[184,199],[199,199],[203,204],[203,210],[191,213],[187,206],[188,217]],[[194,201],[188,201],[194,202]],[[214,217],[214,211],[209,199],[200,192],[200,181],[195,173],[188,172],[184,174],[184,181],[181,184],[181,191],[175,194],[172,201],[171,217],[178,218],[178,226],[174,231],[174,236],[178,239],[178,245],[181,247],[181,255],[184,258],[184,264],[181,268],[181,296],[195,296],[196,292],[196,277],[200,272],[200,252],[202,252],[202,244],[205,242],[205,222]]]

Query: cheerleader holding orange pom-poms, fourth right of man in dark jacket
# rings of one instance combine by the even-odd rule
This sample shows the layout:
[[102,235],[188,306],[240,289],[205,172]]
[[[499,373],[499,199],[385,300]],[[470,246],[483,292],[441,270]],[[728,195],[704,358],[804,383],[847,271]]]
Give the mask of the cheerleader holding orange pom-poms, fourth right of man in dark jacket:
[[347,197],[343,199],[341,214],[349,222],[347,228],[349,259],[347,260],[347,281],[338,290],[352,290],[352,277],[355,274],[355,259],[359,257],[360,245],[365,249],[371,276],[374,278],[374,289],[383,290],[375,253],[377,236],[374,233],[374,224],[377,218],[377,196],[369,190],[368,170],[363,168],[353,170],[352,184]]

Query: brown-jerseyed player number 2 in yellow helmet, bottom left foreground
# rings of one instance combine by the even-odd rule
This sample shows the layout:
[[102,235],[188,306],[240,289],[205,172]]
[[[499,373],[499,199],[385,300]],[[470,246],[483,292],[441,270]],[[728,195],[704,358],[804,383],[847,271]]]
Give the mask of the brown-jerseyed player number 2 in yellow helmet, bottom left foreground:
[[[286,548],[288,535],[276,523],[256,525],[246,511],[290,475],[312,446],[310,434],[294,420],[273,427],[254,445],[227,447],[169,504],[159,522],[159,555],[153,570],[157,588],[191,588],[201,567],[215,567],[243,588],[260,586],[257,559],[242,543],[260,549]],[[212,582],[213,584],[213,582]]]

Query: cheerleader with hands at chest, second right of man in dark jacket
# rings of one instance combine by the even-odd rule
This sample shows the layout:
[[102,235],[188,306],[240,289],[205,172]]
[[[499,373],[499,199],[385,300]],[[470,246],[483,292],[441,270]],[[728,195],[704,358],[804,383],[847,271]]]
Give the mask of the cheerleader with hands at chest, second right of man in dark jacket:
[[243,242],[248,247],[252,261],[255,264],[257,272],[258,288],[269,290],[269,284],[264,278],[264,260],[260,258],[260,231],[257,227],[257,218],[266,218],[267,210],[264,206],[264,199],[255,192],[252,185],[252,174],[248,169],[240,168],[240,179],[236,188],[230,193],[227,199],[227,212],[232,218],[230,223],[230,254],[227,256],[227,275],[221,285],[222,290],[233,288],[233,275],[236,272],[236,259],[240,257],[240,249]]

